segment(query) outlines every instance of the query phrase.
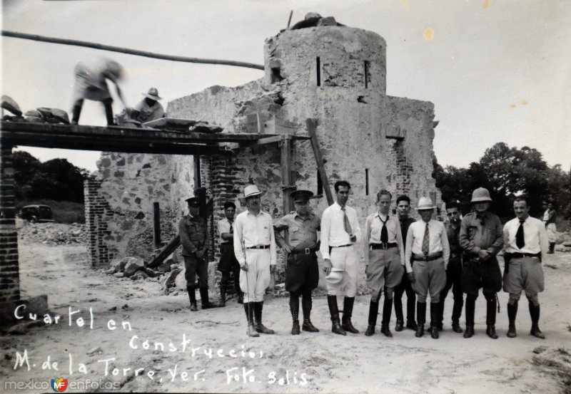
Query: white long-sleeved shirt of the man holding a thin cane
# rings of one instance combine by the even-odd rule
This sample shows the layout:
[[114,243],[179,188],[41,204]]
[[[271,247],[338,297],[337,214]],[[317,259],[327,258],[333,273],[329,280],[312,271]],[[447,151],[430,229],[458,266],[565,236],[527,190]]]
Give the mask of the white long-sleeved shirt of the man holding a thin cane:
[[[242,244],[243,242],[243,244]],[[234,221],[234,254],[240,266],[246,264],[243,247],[270,247],[270,264],[276,265],[276,239],[273,237],[273,222],[270,214],[251,214],[246,210]]]

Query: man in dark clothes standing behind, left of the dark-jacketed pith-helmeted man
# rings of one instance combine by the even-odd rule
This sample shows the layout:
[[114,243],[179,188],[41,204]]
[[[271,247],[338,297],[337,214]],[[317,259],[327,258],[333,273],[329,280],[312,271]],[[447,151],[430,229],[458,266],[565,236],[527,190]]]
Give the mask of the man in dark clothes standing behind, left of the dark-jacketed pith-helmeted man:
[[454,306],[452,308],[452,330],[455,333],[463,332],[460,327],[460,316],[464,306],[464,294],[462,291],[462,248],[460,247],[460,212],[458,212],[458,201],[452,199],[446,204],[446,214],[448,224],[446,224],[446,234],[448,234],[448,244],[450,244],[450,261],[446,269],[446,286],[440,293],[440,319],[438,329],[443,329],[444,301],[448,296],[448,291],[452,289],[454,296]]

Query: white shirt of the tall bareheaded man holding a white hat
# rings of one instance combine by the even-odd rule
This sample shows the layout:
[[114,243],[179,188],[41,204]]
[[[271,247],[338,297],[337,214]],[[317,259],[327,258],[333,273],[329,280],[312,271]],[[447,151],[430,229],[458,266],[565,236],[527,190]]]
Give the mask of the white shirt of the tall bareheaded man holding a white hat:
[[[353,234],[357,237],[356,242],[361,240],[361,229],[357,219],[355,209],[345,205],[345,212],[349,218],[349,223]],[[350,235],[345,231],[345,214],[341,206],[335,202],[330,205],[321,217],[321,247],[320,252],[323,259],[329,259],[329,247],[340,247],[341,245],[353,244]]]

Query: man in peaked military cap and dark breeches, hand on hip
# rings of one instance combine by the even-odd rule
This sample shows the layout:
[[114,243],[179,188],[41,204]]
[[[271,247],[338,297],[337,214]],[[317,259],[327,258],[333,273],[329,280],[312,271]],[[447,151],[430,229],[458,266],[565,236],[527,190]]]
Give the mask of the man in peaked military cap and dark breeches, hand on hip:
[[[290,311],[293,319],[292,335],[298,335],[299,330],[299,297],[302,296],[303,331],[316,333],[319,330],[310,321],[311,291],[319,282],[319,267],[317,255],[319,250],[317,232],[320,229],[321,218],[310,211],[309,199],[313,192],[295,190],[291,193],[295,211],[286,214],[273,224],[276,230],[276,244],[288,254],[285,270],[285,290],[290,292]],[[288,230],[288,239],[280,234]]]

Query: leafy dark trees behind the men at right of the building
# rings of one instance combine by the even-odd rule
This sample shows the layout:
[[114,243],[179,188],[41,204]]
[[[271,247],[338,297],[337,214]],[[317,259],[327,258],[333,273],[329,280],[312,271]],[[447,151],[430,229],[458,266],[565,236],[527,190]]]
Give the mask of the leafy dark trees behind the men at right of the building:
[[492,210],[502,221],[513,217],[513,198],[525,194],[530,197],[532,217],[542,218],[543,201],[552,201],[560,219],[571,218],[571,177],[561,165],[550,167],[542,154],[531,147],[509,147],[497,142],[487,149],[478,162],[468,168],[451,165],[442,167],[433,158],[436,187],[444,202],[460,201],[462,212],[471,210],[470,199],[477,187],[490,190]]

